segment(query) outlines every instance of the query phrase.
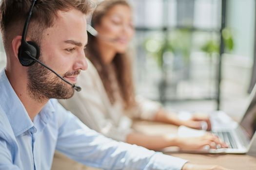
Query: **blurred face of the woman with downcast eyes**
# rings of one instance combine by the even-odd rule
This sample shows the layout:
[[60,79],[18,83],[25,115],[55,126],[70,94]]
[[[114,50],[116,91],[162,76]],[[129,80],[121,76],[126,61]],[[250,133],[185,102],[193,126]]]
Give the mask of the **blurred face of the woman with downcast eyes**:
[[101,18],[95,28],[100,35],[105,37],[98,39],[99,45],[117,53],[124,53],[134,35],[131,9],[126,5],[115,5]]

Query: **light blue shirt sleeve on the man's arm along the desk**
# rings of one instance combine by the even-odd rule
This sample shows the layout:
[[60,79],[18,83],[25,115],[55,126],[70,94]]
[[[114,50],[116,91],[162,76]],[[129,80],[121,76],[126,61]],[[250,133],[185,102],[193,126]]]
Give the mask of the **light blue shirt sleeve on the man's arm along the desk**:
[[181,170],[186,160],[118,142],[89,129],[60,104],[57,150],[104,170]]

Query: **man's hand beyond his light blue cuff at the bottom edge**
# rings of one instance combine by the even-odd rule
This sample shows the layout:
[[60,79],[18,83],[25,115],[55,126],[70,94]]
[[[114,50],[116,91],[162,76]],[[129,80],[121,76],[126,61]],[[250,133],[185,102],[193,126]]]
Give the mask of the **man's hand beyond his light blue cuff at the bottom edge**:
[[182,170],[230,170],[217,165],[198,165],[192,163],[186,163]]

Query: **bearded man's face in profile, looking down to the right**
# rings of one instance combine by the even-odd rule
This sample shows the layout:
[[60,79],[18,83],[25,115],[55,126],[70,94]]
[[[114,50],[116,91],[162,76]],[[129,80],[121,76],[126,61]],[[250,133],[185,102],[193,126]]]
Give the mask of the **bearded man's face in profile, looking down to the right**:
[[[58,13],[54,26],[44,31],[39,60],[72,84],[80,70],[87,68],[86,17],[78,10]],[[28,92],[36,100],[68,99],[74,89],[38,63],[28,68]]]

